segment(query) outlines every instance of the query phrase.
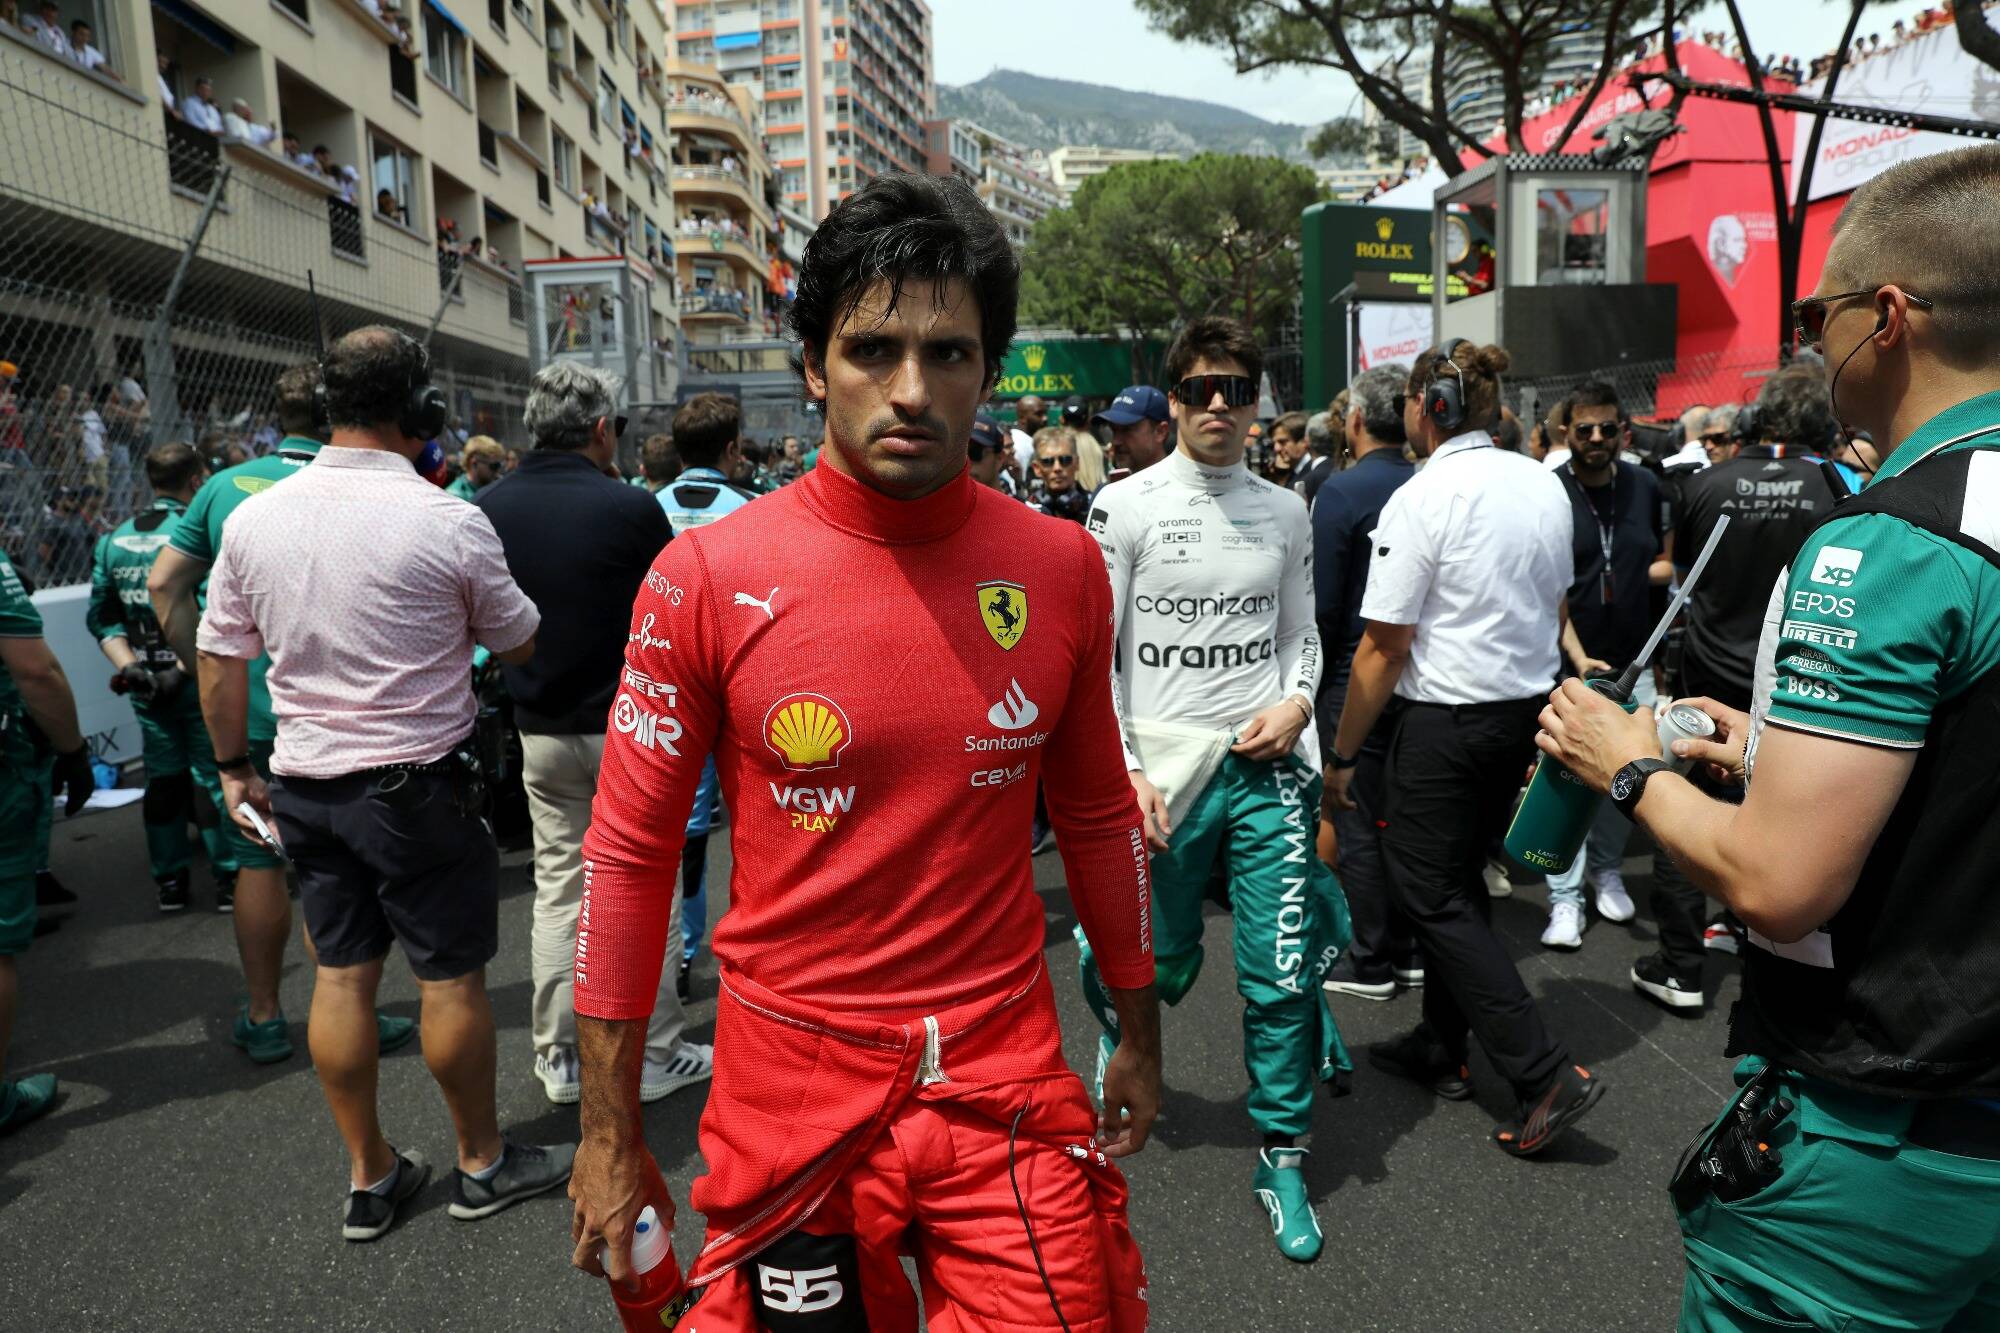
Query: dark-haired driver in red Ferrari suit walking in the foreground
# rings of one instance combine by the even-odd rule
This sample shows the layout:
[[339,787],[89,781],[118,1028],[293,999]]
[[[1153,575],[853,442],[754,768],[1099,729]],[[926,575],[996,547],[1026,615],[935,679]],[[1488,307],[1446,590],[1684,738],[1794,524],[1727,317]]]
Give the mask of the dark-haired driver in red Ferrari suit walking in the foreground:
[[[710,751],[736,873],[714,931],[706,1243],[678,1327],[1146,1325],[1114,1157],[1158,1109],[1148,875],[1080,524],[978,486],[966,440],[1020,268],[958,180],[878,176],[814,232],[792,324],[820,466],[670,542],[632,608],[576,941],[576,1265],[672,1217],[640,1053]],[[1026,841],[1036,783],[1126,1045],[1062,1061]]]

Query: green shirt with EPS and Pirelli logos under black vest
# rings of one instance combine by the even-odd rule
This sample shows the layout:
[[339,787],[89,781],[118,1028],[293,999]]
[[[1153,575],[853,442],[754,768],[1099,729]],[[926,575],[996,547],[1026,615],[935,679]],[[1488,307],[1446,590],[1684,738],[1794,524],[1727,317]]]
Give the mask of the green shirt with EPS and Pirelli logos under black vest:
[[[2000,392],[1980,394],[1918,426],[1876,482],[1932,454],[1996,444]],[[1974,486],[1984,488],[1968,484],[1964,530],[2000,544],[2000,488]],[[1772,723],[1918,749],[1932,713],[2000,666],[2000,568],[1902,518],[1836,510],[1792,562],[1772,618]]]

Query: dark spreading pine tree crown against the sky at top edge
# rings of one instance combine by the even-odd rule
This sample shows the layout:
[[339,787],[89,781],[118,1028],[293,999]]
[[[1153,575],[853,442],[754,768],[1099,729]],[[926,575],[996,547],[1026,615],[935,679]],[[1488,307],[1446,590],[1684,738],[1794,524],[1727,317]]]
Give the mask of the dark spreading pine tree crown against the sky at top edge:
[[[1562,138],[1582,122],[1584,110],[1622,60],[1670,24],[1662,0],[1136,0],[1168,36],[1220,46],[1236,70],[1296,66],[1338,70],[1382,114],[1430,148],[1450,176],[1472,160],[1492,156],[1482,140],[1490,124],[1464,124],[1446,96],[1444,56],[1472,54],[1500,80],[1500,126],[1510,152],[1528,152],[1522,120],[1540,90],[1558,36],[1588,24],[1602,34],[1598,70],[1588,94],[1576,102]],[[1686,8],[1686,6],[1682,6]],[[1408,74],[1420,74],[1408,80]],[[1404,84],[1416,82],[1412,92]],[[1322,130],[1320,148],[1350,146],[1352,122]]]

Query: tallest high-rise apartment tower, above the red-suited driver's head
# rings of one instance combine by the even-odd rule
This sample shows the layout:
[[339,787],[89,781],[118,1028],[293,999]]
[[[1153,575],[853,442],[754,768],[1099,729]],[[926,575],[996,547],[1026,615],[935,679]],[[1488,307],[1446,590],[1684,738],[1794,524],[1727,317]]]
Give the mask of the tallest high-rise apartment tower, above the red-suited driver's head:
[[924,170],[924,0],[674,0],[674,42],[762,106],[778,194],[806,216],[870,176]]

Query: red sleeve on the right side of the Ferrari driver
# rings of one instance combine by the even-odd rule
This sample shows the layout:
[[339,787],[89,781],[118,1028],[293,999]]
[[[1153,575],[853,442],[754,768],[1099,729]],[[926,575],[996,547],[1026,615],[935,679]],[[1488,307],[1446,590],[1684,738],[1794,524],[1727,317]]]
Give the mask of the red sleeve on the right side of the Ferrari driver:
[[1062,719],[1042,751],[1042,795],[1056,829],[1076,921],[1104,985],[1152,985],[1152,881],[1138,797],[1112,709],[1112,584],[1096,540],[1076,524],[1084,638]]

